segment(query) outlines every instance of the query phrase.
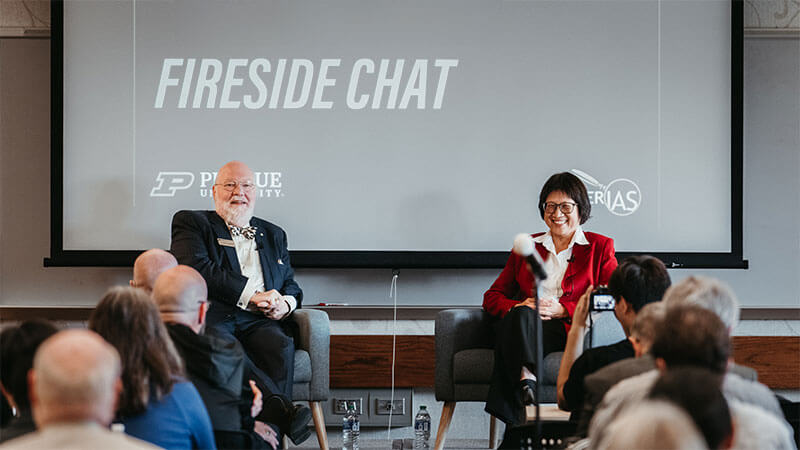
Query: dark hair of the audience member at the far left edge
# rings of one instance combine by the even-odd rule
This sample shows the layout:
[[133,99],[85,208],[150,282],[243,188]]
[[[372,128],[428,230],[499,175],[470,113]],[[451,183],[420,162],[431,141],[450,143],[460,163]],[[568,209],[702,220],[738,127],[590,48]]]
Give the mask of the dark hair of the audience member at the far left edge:
[[14,397],[20,411],[30,410],[28,371],[33,367],[33,355],[42,342],[56,334],[58,328],[42,319],[26,320],[0,333],[0,382]]

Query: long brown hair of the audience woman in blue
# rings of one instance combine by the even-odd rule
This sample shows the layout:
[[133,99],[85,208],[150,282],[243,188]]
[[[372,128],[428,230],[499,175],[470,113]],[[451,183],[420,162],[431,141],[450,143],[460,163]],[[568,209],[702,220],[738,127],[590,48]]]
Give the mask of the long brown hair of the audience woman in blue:
[[89,329],[119,352],[122,393],[118,416],[144,412],[151,396],[160,400],[183,376],[183,363],[158,308],[141,289],[109,289],[89,316]]

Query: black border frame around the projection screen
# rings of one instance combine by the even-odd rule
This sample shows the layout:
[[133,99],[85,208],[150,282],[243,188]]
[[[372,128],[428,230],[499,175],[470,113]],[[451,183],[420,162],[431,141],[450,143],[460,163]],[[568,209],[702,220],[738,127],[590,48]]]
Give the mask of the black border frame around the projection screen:
[[[50,257],[45,267],[131,267],[144,250],[64,250],[64,0],[51,3]],[[618,252],[650,254],[669,268],[746,269],[744,259],[744,2],[731,4],[731,251]],[[296,268],[501,268],[507,251],[290,251]]]

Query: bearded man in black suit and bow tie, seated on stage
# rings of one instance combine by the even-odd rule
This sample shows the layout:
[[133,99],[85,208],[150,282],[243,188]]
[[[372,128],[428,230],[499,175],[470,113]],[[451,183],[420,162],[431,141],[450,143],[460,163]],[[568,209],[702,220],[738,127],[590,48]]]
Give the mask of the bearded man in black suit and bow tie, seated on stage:
[[[212,192],[215,211],[175,214],[170,250],[208,285],[207,326],[241,342],[265,394],[291,399],[294,330],[285,319],[301,306],[303,291],[294,281],[286,233],[253,217],[255,176],[244,163],[225,164]],[[304,428],[311,416],[306,407],[292,409],[291,429],[281,431],[295,441],[298,422]]]

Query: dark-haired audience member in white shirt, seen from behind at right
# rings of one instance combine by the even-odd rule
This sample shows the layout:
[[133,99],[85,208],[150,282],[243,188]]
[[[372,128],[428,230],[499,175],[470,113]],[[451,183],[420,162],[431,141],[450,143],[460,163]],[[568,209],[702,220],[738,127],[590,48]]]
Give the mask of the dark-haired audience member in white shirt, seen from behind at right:
[[[693,304],[668,306],[651,352],[658,370],[623,380],[608,391],[591,422],[589,437],[593,442],[602,442],[609,424],[626,408],[647,396],[660,372],[691,366],[724,374],[722,391],[734,418],[734,448],[748,448],[744,445],[748,439],[760,434],[769,434],[770,443],[777,448],[793,448],[791,430],[769,389],[758,382],[725,373],[730,337],[715,313]],[[750,421],[744,423],[744,417]],[[758,424],[760,429],[753,424]]]

